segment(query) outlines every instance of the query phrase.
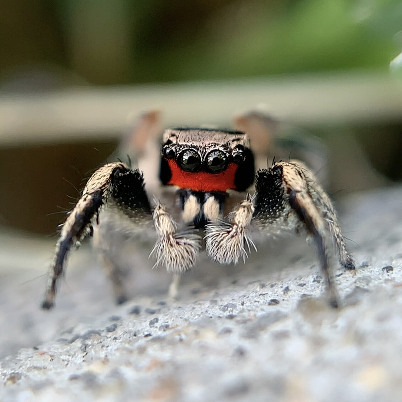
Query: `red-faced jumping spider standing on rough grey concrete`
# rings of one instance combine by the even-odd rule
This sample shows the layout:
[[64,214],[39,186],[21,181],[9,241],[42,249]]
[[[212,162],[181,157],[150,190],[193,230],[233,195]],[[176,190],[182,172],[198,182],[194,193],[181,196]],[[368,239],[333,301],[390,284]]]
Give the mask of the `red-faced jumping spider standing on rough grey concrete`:
[[[316,244],[330,304],[338,306],[328,262],[331,243],[343,267],[354,269],[355,265],[328,195],[303,163],[273,161],[255,175],[254,154],[246,133],[175,128],[162,135],[159,178],[163,186],[176,190],[180,231],[164,205],[155,200],[151,206],[144,176],[138,169],[113,162],[92,174],[62,227],[42,308],[53,307],[56,285],[70,248],[92,236],[94,227],[103,220],[113,221],[127,233],[153,222],[157,239],[151,254],[156,264],[163,264],[175,274],[171,293],[179,275],[197,262],[202,241],[212,260],[236,264],[246,260],[251,248],[256,249],[253,232],[305,233]],[[243,193],[250,187],[253,196]],[[225,209],[236,195],[240,195],[240,202],[224,220]],[[117,302],[121,303],[126,300],[123,281],[117,267],[110,261],[108,265]]]

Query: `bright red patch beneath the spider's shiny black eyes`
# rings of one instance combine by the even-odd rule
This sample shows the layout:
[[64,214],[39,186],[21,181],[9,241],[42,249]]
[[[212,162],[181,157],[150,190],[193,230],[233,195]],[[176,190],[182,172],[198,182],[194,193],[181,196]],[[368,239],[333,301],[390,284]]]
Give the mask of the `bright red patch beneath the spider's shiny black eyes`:
[[185,172],[173,159],[168,160],[168,164],[172,172],[168,185],[178,186],[180,189],[205,192],[236,190],[234,184],[234,176],[238,168],[236,163],[229,163],[228,168],[220,173],[209,173],[203,170]]

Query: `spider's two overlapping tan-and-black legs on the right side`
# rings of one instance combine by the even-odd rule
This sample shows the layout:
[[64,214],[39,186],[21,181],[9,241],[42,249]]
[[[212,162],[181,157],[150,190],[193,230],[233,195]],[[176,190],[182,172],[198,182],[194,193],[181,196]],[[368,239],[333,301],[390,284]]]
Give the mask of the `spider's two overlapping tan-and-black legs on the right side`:
[[263,230],[304,228],[314,238],[322,273],[325,276],[331,306],[338,307],[338,295],[328,259],[328,243],[333,239],[340,263],[354,269],[332,203],[316,183],[314,174],[298,161],[276,162],[258,170],[254,219]]

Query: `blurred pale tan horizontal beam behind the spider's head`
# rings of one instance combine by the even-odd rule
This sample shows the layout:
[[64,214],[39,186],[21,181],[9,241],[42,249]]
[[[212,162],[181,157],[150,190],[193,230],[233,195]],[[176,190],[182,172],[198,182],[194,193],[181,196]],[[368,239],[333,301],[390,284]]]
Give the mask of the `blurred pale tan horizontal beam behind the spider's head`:
[[400,121],[402,79],[354,72],[3,93],[0,146],[112,139],[127,127],[129,115],[150,109],[163,112],[166,126],[228,126],[235,113],[259,104],[295,124]]

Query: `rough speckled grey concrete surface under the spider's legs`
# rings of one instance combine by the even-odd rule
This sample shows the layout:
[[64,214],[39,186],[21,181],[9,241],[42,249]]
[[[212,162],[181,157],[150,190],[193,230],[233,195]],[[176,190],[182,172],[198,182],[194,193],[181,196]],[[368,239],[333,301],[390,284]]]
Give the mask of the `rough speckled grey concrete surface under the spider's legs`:
[[301,239],[260,245],[246,266],[203,258],[174,302],[168,275],[136,251],[133,299],[122,306],[82,248],[51,312],[38,308],[45,277],[36,276],[52,242],[8,247],[0,400],[400,400],[401,199],[399,187],[338,205],[359,267],[336,271],[341,310],[327,306],[314,250]]

